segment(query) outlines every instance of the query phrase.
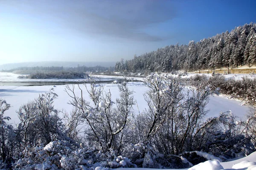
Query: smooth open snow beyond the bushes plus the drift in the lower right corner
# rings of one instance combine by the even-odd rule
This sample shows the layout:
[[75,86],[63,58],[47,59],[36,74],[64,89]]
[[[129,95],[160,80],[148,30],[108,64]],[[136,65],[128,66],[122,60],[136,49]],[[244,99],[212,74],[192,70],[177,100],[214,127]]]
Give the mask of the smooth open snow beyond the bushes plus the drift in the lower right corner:
[[[17,74],[12,73],[0,73],[0,82],[18,82],[18,81],[34,81],[31,79],[17,79]],[[186,77],[190,77],[192,75],[188,75]],[[111,77],[111,76],[101,76],[103,79],[119,79],[120,77]],[[243,77],[243,76],[239,76]],[[233,78],[233,76],[229,75],[227,78]],[[237,76],[234,76],[237,79]],[[142,78],[135,78],[141,80]],[[54,79],[55,80],[55,79]],[[41,80],[35,80],[41,81]],[[44,79],[44,81],[52,81]],[[61,80],[60,80],[61,81]],[[69,81],[69,80],[65,80]],[[71,80],[70,80],[71,81]],[[72,80],[73,82],[74,80]],[[75,81],[78,81],[75,79]],[[116,84],[103,84],[105,91],[110,90],[112,95],[112,100],[118,97],[118,87]],[[79,95],[78,85],[76,86],[76,94]],[[11,108],[6,111],[5,116],[9,116],[12,118],[10,122],[14,125],[19,122],[17,118],[16,111],[19,107],[35,98],[38,97],[38,94],[48,92],[53,86],[52,85],[44,85],[44,86],[0,86],[0,98],[5,99],[9,104],[11,104]],[[66,85],[56,85],[54,87],[54,91],[58,94],[58,98],[55,99],[54,105],[55,109],[63,110],[66,112],[70,112],[72,110],[72,105],[67,104],[70,100],[70,97],[64,91]],[[80,85],[80,87],[84,90],[83,97],[87,101],[90,101],[86,88],[84,85]],[[143,84],[143,82],[129,82],[128,87],[134,91],[134,99],[137,101],[137,105],[134,105],[134,113],[137,114],[142,112],[146,107],[146,102],[144,100],[143,94],[148,90],[148,88]],[[186,91],[186,89],[185,89]],[[231,110],[235,116],[238,116],[241,119],[245,119],[247,111],[249,111],[248,106],[242,105],[243,103],[236,99],[228,99],[224,96],[210,96],[209,103],[207,104],[207,117],[218,116],[221,111],[225,112]],[[205,118],[205,119],[206,119]],[[221,170],[221,169],[239,169],[239,170],[256,170],[256,152],[252,153],[250,156],[247,156],[242,159],[238,159],[235,161],[229,162],[221,162],[218,161],[206,161],[201,164],[195,165],[190,170]],[[234,165],[235,164],[235,165]],[[149,170],[147,168],[131,168],[132,170]],[[189,169],[189,168],[187,168]],[[187,170],[184,169],[184,170]],[[119,170],[123,170],[120,168]]]

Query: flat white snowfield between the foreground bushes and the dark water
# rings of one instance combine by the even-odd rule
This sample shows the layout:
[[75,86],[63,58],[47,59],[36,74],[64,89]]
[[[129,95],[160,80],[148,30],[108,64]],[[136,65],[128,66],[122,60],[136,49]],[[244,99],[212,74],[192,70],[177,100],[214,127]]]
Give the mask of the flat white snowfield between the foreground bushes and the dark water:
[[[118,87],[116,84],[103,84],[104,90],[111,91],[112,100],[119,96]],[[77,85],[76,85],[77,86]],[[83,89],[84,99],[90,101],[86,88],[84,85],[80,85]],[[142,112],[144,108],[147,107],[146,102],[144,100],[143,94],[148,90],[148,88],[143,84],[143,82],[129,82],[128,87],[133,90],[134,99],[137,101],[137,105],[134,105],[134,113]],[[18,109],[21,105],[35,99],[38,97],[38,94],[49,92],[52,88],[51,85],[45,86],[0,86],[0,97],[5,99],[9,104],[11,104],[11,108],[6,111],[6,116],[11,117],[11,122],[18,123],[19,120],[17,118]],[[55,93],[58,95],[58,98],[55,100],[54,105],[55,109],[64,110],[70,112],[72,110],[72,105],[67,104],[70,100],[70,97],[64,91],[66,85],[56,85],[54,87]],[[186,90],[185,90],[186,91]],[[85,93],[86,92],[86,93]],[[78,86],[76,87],[76,94],[79,95],[80,92],[78,90]],[[239,118],[245,119],[247,111],[249,110],[248,106],[242,105],[243,102],[240,102],[235,99],[227,99],[223,96],[210,96],[209,103],[207,104],[206,109],[209,110],[207,117],[217,117],[219,113],[226,112],[231,110],[235,116]]]

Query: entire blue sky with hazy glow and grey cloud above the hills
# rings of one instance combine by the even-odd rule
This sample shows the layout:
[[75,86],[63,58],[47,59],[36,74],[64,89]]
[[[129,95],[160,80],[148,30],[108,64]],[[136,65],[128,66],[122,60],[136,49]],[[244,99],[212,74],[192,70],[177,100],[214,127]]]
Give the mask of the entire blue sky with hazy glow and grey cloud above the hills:
[[118,61],[256,22],[256,0],[0,0],[0,64]]

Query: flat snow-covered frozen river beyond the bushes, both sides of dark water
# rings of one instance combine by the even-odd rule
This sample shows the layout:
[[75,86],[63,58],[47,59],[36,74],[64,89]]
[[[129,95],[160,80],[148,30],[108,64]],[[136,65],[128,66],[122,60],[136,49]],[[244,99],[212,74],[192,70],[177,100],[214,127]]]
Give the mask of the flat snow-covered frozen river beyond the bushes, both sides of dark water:
[[[39,94],[49,92],[52,88],[52,85],[55,85],[54,91],[58,94],[58,98],[54,101],[55,109],[63,110],[69,113],[72,110],[72,106],[67,104],[70,100],[70,97],[64,91],[66,88],[65,84],[81,84],[82,80],[69,79],[69,80],[56,80],[56,79],[17,79],[17,74],[12,73],[0,73],[0,83],[6,82],[5,85],[1,84],[0,86],[0,98],[5,99],[12,107],[6,111],[5,116],[12,118],[11,122],[19,122],[17,118],[16,111],[20,108],[21,105],[35,99]],[[109,82],[121,81],[122,77],[110,77],[110,76],[101,76],[102,85],[104,85],[104,90],[111,91],[112,100],[115,101],[119,97],[119,91],[116,84]],[[148,90],[148,88],[141,81],[142,78],[136,78],[133,81],[129,82],[128,87],[134,91],[134,99],[137,102],[137,105],[134,105],[134,114],[142,112],[147,108],[147,103],[144,100],[143,94]],[[20,81],[20,82],[19,82]],[[104,82],[105,81],[105,82]],[[7,84],[7,82],[9,84]],[[77,85],[76,85],[77,86]],[[87,101],[90,101],[88,94],[84,85],[81,85],[84,89],[83,98]],[[76,94],[79,95],[78,87],[76,88]],[[246,118],[247,111],[249,111],[248,106],[242,105],[242,102],[235,99],[228,99],[223,96],[210,96],[209,103],[206,107],[209,110],[207,117],[218,116],[219,113],[231,110],[235,116],[238,116],[241,119]]]

